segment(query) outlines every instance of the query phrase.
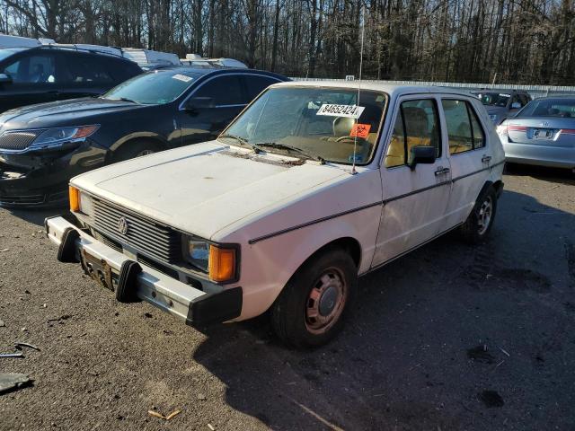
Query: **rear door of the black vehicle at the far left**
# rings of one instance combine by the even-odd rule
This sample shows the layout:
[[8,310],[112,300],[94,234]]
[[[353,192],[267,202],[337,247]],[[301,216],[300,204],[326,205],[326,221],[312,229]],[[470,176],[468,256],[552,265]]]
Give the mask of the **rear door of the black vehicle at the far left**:
[[[103,57],[103,56],[102,56]],[[60,74],[58,99],[75,99],[101,94],[114,85],[101,56],[77,52],[61,51],[57,54]]]

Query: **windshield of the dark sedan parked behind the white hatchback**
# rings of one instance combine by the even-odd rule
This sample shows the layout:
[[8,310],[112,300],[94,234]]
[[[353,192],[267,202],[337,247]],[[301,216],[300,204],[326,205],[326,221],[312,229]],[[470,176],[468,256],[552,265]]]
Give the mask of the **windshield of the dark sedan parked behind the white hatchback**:
[[111,100],[135,101],[145,105],[168,103],[190,87],[197,75],[181,70],[155,70],[128,79],[106,92]]

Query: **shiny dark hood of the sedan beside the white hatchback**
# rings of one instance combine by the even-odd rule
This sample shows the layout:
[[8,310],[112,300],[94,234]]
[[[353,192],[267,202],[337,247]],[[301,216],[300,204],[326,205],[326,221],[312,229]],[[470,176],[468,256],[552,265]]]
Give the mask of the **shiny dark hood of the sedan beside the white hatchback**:
[[87,124],[102,114],[115,114],[119,111],[143,108],[146,108],[146,105],[101,98],[39,103],[5,111],[0,115],[0,132],[22,128],[78,126]]

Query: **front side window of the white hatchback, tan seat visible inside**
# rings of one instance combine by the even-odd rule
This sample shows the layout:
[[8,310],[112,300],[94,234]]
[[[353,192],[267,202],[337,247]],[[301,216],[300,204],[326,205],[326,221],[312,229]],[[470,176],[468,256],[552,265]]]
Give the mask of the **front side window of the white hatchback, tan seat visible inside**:
[[436,156],[441,156],[438,109],[435,101],[403,101],[395,120],[394,131],[385,154],[385,167],[410,163],[411,148],[433,146]]

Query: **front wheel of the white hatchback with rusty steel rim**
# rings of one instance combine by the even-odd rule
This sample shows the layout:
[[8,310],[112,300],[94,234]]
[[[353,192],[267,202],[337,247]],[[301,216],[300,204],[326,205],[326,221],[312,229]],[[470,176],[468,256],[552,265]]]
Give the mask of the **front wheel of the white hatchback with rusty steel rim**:
[[[325,251],[307,261],[288,281],[271,307],[271,325],[290,347],[322,346],[340,332],[357,286],[358,268],[349,253]],[[313,295],[320,296],[314,300]],[[310,317],[314,310],[317,318]]]

